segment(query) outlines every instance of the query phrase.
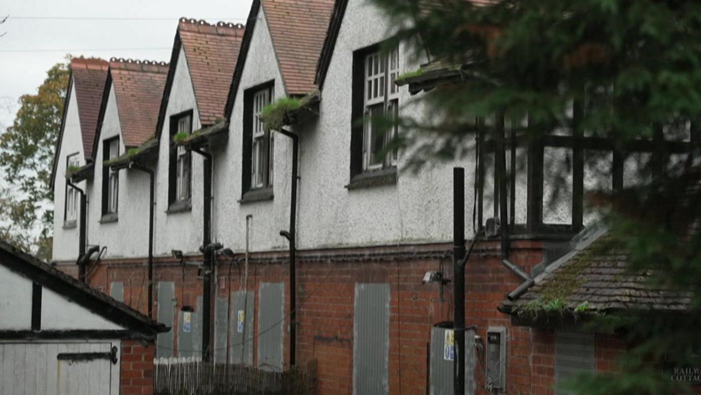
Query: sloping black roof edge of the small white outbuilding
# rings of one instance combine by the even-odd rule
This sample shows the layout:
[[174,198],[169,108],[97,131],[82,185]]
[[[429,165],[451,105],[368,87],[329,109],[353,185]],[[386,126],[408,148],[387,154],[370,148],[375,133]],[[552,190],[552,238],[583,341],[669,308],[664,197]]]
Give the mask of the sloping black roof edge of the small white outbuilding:
[[5,241],[0,241],[0,265],[27,276],[32,281],[76,302],[104,319],[124,326],[144,337],[154,337],[158,333],[170,330],[170,327],[163,323],[149,319],[126,304],[90,288],[85,283],[50,267],[50,265]]

